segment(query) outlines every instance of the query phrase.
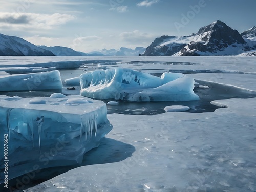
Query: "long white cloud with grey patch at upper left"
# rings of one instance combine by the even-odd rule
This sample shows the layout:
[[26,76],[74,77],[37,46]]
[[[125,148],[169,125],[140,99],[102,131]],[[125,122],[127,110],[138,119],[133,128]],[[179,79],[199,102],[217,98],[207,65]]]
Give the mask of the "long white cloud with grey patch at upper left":
[[66,24],[76,17],[70,14],[37,14],[37,13],[3,13],[0,12],[0,27],[52,29]]

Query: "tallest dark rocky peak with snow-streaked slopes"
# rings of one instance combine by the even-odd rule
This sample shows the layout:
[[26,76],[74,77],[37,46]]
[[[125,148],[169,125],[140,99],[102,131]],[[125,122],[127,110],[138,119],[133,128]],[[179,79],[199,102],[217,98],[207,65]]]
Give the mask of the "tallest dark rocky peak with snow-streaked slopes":
[[200,28],[178,55],[237,55],[248,50],[245,40],[237,30],[217,20]]

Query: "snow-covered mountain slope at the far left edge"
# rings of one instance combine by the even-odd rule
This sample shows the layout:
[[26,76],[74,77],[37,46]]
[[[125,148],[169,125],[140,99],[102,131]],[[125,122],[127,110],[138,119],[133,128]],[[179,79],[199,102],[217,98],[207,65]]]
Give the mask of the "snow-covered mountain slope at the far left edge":
[[54,56],[23,38],[0,34],[0,56]]

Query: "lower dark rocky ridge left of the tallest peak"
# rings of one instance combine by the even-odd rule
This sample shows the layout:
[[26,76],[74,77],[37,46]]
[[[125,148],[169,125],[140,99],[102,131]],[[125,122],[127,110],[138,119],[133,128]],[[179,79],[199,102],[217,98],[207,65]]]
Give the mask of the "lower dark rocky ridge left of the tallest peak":
[[[186,38],[186,37],[181,37]],[[187,44],[180,41],[179,37],[164,35],[156,38],[150,46],[146,48],[143,56],[168,56],[180,51]]]

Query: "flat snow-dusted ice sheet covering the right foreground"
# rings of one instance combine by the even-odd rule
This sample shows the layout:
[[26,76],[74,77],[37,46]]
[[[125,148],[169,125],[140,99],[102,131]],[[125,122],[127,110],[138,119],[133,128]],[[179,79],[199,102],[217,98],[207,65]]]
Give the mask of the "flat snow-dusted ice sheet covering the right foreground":
[[216,102],[228,108],[186,115],[108,115],[114,129],[107,137],[126,144],[115,153],[125,155],[132,145],[132,156],[122,161],[102,156],[112,146],[109,140],[90,154],[100,157],[99,163],[26,191],[254,191],[256,99]]

